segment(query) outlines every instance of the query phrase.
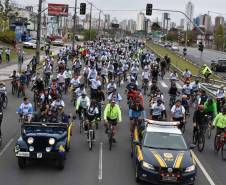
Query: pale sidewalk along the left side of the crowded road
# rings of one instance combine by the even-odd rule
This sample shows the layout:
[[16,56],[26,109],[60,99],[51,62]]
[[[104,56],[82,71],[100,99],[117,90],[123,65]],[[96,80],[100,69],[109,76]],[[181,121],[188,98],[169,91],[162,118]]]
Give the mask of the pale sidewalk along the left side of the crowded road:
[[[59,50],[59,48],[54,48],[51,51],[53,51],[54,53],[57,52]],[[45,55],[41,55],[40,56],[40,61],[42,61],[44,59]],[[22,69],[25,69],[26,66],[29,64],[29,62],[31,61],[32,56],[26,57],[26,59],[24,60]],[[16,70],[18,71],[18,64],[8,64],[7,66],[4,66],[1,68],[0,66],[0,81],[6,81],[9,80],[9,76],[12,74],[12,72]]]

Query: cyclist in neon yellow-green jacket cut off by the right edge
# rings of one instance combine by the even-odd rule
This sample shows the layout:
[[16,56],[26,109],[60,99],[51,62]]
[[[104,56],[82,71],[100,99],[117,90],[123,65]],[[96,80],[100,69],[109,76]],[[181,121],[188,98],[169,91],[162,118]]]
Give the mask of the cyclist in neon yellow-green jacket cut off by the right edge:
[[225,132],[226,128],[226,106],[223,107],[222,113],[219,113],[214,121],[213,125],[217,128],[216,136],[221,135],[221,133]]

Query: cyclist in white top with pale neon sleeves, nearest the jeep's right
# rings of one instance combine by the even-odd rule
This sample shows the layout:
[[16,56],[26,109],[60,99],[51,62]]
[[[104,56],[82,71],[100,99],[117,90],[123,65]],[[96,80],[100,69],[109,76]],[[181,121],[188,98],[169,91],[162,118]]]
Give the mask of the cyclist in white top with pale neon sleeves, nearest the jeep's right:
[[83,91],[82,96],[80,96],[76,102],[76,112],[78,113],[80,119],[81,119],[81,112],[84,111],[85,113],[89,106],[90,106],[90,99],[87,96],[86,92]]

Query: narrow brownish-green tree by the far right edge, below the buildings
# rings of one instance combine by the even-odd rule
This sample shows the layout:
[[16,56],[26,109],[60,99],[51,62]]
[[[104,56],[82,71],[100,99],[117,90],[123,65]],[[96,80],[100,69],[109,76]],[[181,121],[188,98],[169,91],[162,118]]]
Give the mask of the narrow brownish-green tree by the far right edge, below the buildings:
[[219,25],[214,32],[214,43],[217,50],[224,49],[224,28],[222,25]]

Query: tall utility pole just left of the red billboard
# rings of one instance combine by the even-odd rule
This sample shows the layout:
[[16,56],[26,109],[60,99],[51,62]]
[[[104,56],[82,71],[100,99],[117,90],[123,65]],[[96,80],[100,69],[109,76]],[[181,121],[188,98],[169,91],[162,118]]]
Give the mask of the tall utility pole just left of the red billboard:
[[42,20],[42,0],[38,3],[37,17],[37,43],[36,43],[36,62],[40,62],[40,37],[41,37],[41,20]]

